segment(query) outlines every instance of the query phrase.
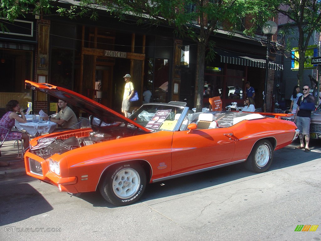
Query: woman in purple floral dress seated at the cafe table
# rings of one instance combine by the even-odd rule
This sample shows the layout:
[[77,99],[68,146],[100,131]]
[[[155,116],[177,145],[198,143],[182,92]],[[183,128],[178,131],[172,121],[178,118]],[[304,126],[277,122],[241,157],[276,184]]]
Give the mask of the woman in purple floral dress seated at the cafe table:
[[[14,121],[17,120],[21,123],[26,123],[27,119],[24,116],[22,108],[19,106],[19,102],[16,100],[11,100],[7,103],[5,110],[7,111],[4,116],[0,120],[0,126],[5,127],[7,129],[12,129],[14,126]],[[21,117],[17,114],[19,112]],[[0,127],[0,140],[3,140],[7,134],[8,130]],[[14,140],[14,139],[22,139],[23,140],[23,148],[26,149],[29,147],[29,136],[25,133],[19,131],[11,131],[6,140]],[[1,156],[1,152],[0,152]]]

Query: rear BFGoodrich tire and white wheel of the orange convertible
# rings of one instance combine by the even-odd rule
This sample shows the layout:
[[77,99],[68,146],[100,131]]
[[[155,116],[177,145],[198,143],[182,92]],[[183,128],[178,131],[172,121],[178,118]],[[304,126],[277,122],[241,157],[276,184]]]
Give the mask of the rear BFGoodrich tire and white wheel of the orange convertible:
[[260,140],[247,157],[245,167],[252,172],[265,172],[273,160],[273,147],[270,141]]

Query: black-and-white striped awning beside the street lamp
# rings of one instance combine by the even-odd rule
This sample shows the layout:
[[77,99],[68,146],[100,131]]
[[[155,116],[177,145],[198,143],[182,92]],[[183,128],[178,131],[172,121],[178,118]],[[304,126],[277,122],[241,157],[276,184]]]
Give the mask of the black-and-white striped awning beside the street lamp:
[[[263,58],[257,58],[257,56],[252,56],[248,54],[236,55],[233,52],[229,52],[227,50],[222,49],[215,49],[215,52],[221,56],[221,63],[265,68],[266,59],[263,56]],[[283,65],[277,64],[274,61],[269,60],[269,69],[282,71]]]

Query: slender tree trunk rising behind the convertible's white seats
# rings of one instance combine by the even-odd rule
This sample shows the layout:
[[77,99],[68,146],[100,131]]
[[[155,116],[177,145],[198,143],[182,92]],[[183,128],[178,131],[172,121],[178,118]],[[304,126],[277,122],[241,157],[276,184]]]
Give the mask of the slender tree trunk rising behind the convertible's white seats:
[[205,67],[205,44],[199,43],[197,45],[197,67],[196,67],[196,81],[197,81],[197,100],[196,112],[201,112],[203,108],[203,91],[204,91],[204,67]]

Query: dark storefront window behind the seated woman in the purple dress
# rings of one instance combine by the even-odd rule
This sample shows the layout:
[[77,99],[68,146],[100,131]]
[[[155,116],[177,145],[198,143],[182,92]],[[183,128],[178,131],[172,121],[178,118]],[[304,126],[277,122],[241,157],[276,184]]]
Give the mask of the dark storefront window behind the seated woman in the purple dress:
[[31,90],[25,89],[25,80],[32,77],[33,52],[14,49],[0,49],[0,108],[10,100],[17,100],[26,108],[31,102]]

